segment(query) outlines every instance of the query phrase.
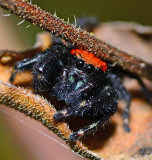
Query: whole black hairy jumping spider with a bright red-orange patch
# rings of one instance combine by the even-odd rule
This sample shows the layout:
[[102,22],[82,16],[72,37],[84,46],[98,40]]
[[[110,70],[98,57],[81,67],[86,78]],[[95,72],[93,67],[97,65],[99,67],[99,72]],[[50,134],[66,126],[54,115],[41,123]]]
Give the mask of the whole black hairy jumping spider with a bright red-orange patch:
[[[56,97],[67,104],[67,108],[54,115],[56,122],[73,116],[94,121],[72,133],[69,137],[71,141],[106,124],[117,111],[118,99],[126,101],[122,116],[125,131],[130,131],[128,122],[131,96],[120,77],[115,74],[116,69],[92,53],[75,49],[70,43],[65,45],[61,39],[54,38],[52,46],[46,51],[16,63],[10,82],[23,70],[32,71],[35,93]],[[137,80],[143,87],[142,81],[139,78]]]

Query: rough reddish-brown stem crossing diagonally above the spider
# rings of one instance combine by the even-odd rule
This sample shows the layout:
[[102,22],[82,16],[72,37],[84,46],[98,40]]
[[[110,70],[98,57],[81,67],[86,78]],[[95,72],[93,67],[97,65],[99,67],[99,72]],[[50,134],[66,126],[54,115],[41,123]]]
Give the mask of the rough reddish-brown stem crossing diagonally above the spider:
[[[30,21],[42,29],[55,34],[77,48],[94,53],[98,58],[121,67],[124,70],[152,80],[152,65],[139,58],[128,55],[89,33],[75,28],[56,16],[43,11],[36,5],[23,0],[0,0],[0,5],[12,13]],[[144,53],[143,53],[144,54]]]

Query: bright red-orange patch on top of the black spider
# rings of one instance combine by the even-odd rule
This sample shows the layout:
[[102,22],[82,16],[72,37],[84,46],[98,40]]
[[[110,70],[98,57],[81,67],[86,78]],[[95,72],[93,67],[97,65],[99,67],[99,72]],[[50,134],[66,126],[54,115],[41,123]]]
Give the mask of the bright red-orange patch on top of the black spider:
[[72,49],[72,55],[76,55],[79,59],[84,60],[87,64],[92,64],[94,67],[100,68],[103,72],[107,70],[107,64],[97,57],[93,53],[80,49]]

